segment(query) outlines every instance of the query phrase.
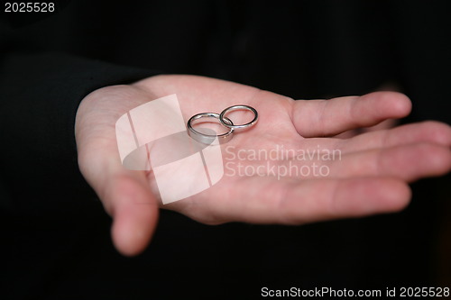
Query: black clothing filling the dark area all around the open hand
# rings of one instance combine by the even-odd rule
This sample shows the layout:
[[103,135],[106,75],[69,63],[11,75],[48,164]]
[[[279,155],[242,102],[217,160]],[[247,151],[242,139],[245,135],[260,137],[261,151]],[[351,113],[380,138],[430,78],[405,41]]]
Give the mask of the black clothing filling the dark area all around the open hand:
[[445,178],[414,186],[400,214],[299,227],[211,227],[164,211],[149,249],[127,259],[78,171],[73,126],[89,92],[163,71],[294,98],[396,83],[414,103],[410,120],[449,123],[446,1],[56,3],[47,16],[5,14],[0,27],[2,298],[434,286],[435,186]]

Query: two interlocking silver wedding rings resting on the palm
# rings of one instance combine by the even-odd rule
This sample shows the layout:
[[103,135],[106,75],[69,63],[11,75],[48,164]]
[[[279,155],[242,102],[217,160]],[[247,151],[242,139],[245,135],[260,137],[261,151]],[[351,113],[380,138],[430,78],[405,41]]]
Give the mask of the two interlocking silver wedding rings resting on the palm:
[[[249,123],[244,123],[244,124],[239,124],[239,125],[234,124],[232,122],[232,120],[230,120],[229,118],[226,117],[226,114],[233,112],[233,111],[237,111],[237,110],[251,111],[253,113],[253,120]],[[221,125],[228,128],[228,131],[225,133],[221,133],[221,134],[207,134],[204,132],[198,132],[197,130],[195,130],[193,128],[192,123],[195,120],[198,120],[200,118],[216,118],[219,120]],[[200,113],[200,114],[193,115],[191,118],[189,118],[189,121],[188,121],[188,134],[194,140],[205,143],[205,144],[211,144],[216,139],[219,143],[225,143],[232,139],[235,129],[244,129],[244,128],[252,127],[253,125],[255,125],[255,123],[257,123],[257,121],[258,121],[258,113],[255,110],[255,108],[253,108],[252,106],[249,106],[249,105],[233,105],[233,106],[227,107],[224,111],[221,112],[221,114]]]

